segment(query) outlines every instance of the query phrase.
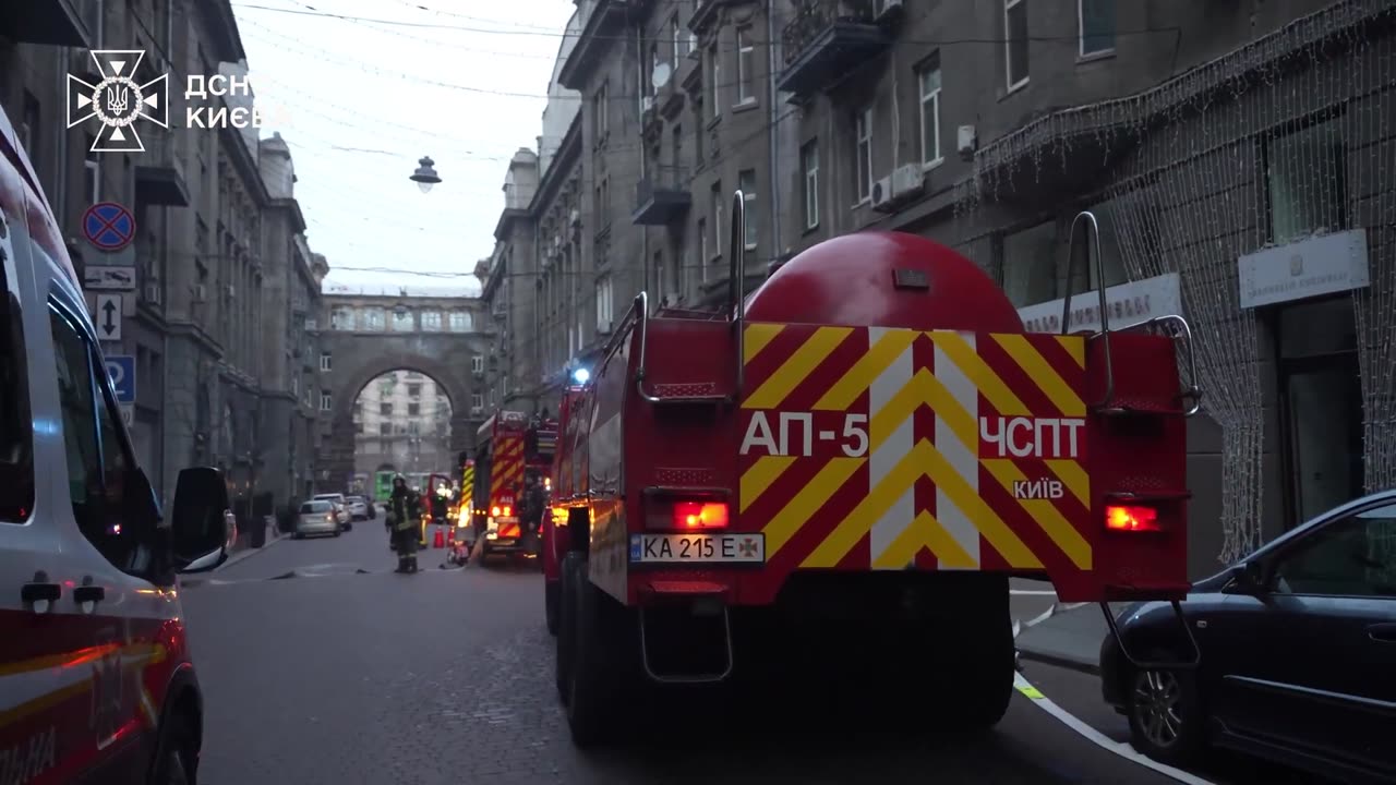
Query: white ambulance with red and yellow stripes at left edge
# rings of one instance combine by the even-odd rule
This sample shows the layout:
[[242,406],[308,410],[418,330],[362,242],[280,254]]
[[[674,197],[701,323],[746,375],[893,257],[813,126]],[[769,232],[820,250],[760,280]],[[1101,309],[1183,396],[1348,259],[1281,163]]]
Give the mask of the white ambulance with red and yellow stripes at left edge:
[[235,536],[223,478],[162,513],[61,233],[0,112],[0,782],[195,782],[179,573]]

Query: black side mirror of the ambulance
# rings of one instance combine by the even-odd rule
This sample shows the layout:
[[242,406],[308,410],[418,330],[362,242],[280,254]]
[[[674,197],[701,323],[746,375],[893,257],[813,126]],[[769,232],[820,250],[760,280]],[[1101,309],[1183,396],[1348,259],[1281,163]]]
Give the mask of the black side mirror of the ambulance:
[[174,568],[180,573],[214,570],[228,560],[236,539],[237,524],[223,474],[212,467],[181,471],[170,514]]

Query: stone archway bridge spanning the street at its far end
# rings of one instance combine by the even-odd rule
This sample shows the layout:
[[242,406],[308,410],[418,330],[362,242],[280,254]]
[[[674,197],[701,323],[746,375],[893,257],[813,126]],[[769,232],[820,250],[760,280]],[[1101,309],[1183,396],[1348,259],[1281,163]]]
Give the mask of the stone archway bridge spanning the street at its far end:
[[324,306],[329,324],[320,332],[320,352],[328,369],[321,366],[320,388],[329,392],[329,411],[320,413],[324,439],[317,455],[317,487],[350,487],[355,401],[370,381],[394,370],[413,370],[434,380],[451,399],[451,453],[470,446],[486,416],[472,406],[486,391],[484,376],[475,373],[472,363],[489,352],[479,300],[327,295]]

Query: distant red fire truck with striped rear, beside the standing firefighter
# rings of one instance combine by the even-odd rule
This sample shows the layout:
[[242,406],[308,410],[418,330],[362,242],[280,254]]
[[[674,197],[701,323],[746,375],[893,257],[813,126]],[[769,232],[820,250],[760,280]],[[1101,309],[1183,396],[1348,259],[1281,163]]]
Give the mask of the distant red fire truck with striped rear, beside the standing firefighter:
[[556,447],[557,420],[524,412],[498,411],[476,432],[475,500],[486,510],[482,556],[532,555],[539,532],[521,527],[524,478],[533,474],[544,493],[551,489]]

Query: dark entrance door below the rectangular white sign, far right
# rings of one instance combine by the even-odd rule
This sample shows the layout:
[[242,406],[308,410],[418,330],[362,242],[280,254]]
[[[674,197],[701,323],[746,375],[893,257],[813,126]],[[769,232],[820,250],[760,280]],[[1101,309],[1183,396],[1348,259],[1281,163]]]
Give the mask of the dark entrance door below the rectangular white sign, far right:
[[1280,311],[1279,372],[1290,528],[1362,493],[1362,397],[1353,302]]

